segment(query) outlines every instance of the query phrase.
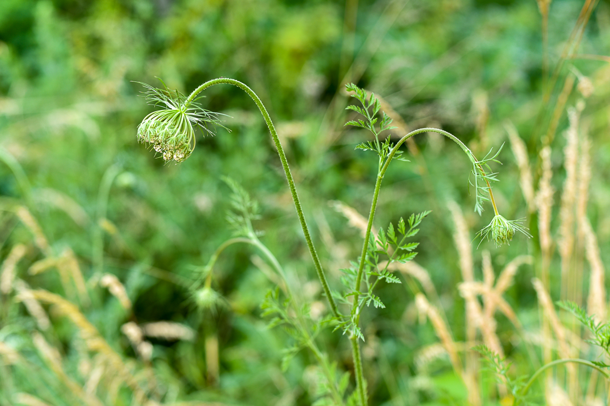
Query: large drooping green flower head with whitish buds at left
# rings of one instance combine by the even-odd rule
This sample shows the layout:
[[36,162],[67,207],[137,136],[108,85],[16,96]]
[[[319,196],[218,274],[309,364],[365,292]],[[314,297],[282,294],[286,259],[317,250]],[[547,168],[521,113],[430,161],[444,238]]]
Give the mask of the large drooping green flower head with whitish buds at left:
[[150,113],[142,120],[138,126],[138,141],[150,143],[166,162],[182,162],[188,158],[195,149],[196,127],[213,135],[206,124],[220,125],[217,118],[219,113],[202,109],[196,101],[185,103],[183,94],[169,90],[164,83],[164,89],[142,85],[147,89],[142,93],[149,104],[163,109]]

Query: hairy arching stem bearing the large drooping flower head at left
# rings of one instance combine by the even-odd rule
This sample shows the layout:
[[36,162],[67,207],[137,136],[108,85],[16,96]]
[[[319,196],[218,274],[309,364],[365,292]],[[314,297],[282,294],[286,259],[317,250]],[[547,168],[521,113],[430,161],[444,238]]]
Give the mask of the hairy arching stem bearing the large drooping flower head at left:
[[271,137],[273,138],[273,143],[275,144],[276,149],[278,150],[279,160],[281,160],[281,162],[282,162],[282,168],[284,168],[286,180],[288,181],[288,186],[290,188],[290,194],[292,194],[292,201],[295,204],[296,214],[299,217],[299,221],[301,223],[301,228],[303,229],[303,234],[305,236],[307,248],[309,248],[309,252],[311,254],[312,260],[314,260],[314,266],[315,266],[315,270],[318,274],[318,278],[320,279],[322,288],[324,289],[324,293],[326,294],[326,299],[328,299],[328,302],[331,306],[332,314],[335,317],[340,317],[339,310],[337,309],[337,304],[335,303],[335,301],[332,297],[331,289],[329,288],[328,282],[326,281],[326,276],[322,269],[322,265],[320,263],[320,258],[318,258],[318,254],[315,251],[314,243],[312,242],[311,237],[309,235],[309,229],[307,228],[305,216],[303,215],[303,209],[301,208],[301,202],[299,201],[299,197],[296,194],[295,182],[292,179],[292,173],[290,173],[290,167],[288,165],[288,160],[286,159],[286,155],[284,154],[284,149],[282,148],[282,144],[279,142],[278,132],[275,130],[275,127],[273,126],[273,122],[271,121],[271,117],[269,116],[269,113],[267,113],[267,109],[265,109],[265,105],[262,103],[262,101],[260,101],[259,96],[257,96],[256,93],[254,93],[254,91],[251,88],[249,88],[248,86],[246,86],[239,80],[229,79],[227,77],[219,77],[218,79],[208,80],[206,83],[200,85],[198,88],[193,90],[193,93],[191,93],[188,96],[188,98],[186,99],[186,101],[184,102],[185,106],[188,107],[188,105],[190,105],[193,102],[193,100],[195,99],[195,96],[197,96],[197,94],[199,94],[201,91],[203,91],[204,89],[206,89],[210,86],[218,85],[218,84],[234,85],[234,86],[239,87],[246,93],[248,93],[248,96],[250,96],[254,100],[254,102],[256,103],[257,107],[259,108],[260,113],[262,114],[263,118],[265,118],[265,123],[267,123],[269,132],[271,133]]

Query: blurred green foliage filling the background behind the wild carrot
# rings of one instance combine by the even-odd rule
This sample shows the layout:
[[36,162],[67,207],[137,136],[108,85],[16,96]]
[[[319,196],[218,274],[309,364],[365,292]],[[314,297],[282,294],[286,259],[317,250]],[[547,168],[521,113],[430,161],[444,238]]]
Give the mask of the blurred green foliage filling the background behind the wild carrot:
[[[551,70],[581,6],[576,0],[551,4]],[[351,15],[356,19],[350,22]],[[0,148],[18,166],[0,165],[0,257],[26,244],[18,278],[77,301],[57,272],[28,272],[48,255],[14,215],[16,205],[25,205],[40,223],[52,255],[66,247],[75,252],[91,296],[90,305],[80,303],[82,312],[114,351],[143,365],[142,374],[154,370],[157,386],[151,393],[157,401],[309,405],[315,400],[313,357],[303,351],[287,372],[281,371],[282,349],[290,340],[281,329],[266,329],[260,318],[260,304],[274,283],[257,268],[256,258],[253,262],[253,248],[232,246],[218,260],[214,288],[226,298],[223,306],[200,312],[191,297],[193,280],[231,235],[224,219],[230,190],[221,181],[231,176],[260,202],[256,229],[264,231],[261,240],[284,264],[290,282],[303,287],[307,301],[324,300],[317,282],[311,282],[314,268],[256,106],[237,88],[207,90],[203,106],[231,116],[224,123],[231,132],[199,134],[187,161],[163,165],[136,143],[137,125],[152,107],[138,97],[143,88],[132,81],[157,85],[155,77],[160,77],[170,88],[190,93],[205,80],[224,76],[242,80],[259,94],[282,137],[310,229],[336,287],[339,268],[358,255],[361,238],[329,201],[368,213],[377,163],[354,150],[370,135],[343,127],[349,117],[343,110],[346,82],[381,96],[406,128],[442,127],[479,157],[507,140],[504,125],[511,120],[538,179],[537,157],[551,107],[565,77],[577,70],[591,77],[595,89],[583,112],[593,145],[588,213],[601,258],[609,260],[610,219],[603,214],[610,210],[608,62],[569,60],[559,70],[550,102],[544,102],[540,27],[533,0],[3,0]],[[578,53],[603,54],[609,46],[610,3],[605,0],[592,14]],[[567,105],[579,98],[573,91]],[[552,144],[556,190],[565,177],[561,134],[567,125],[562,114]],[[471,238],[472,230],[489,223],[491,210],[479,218],[470,209],[470,168],[458,148],[426,135],[415,139],[409,152],[411,162],[395,163],[386,174],[376,226],[432,210],[418,235],[417,261],[432,277],[454,339],[465,341],[464,299],[456,289],[462,277],[447,201],[462,207]],[[529,215],[534,239],[515,238],[500,249],[484,242],[478,251],[473,243],[477,279],[482,278],[483,249],[493,252],[497,269],[517,255],[540,250],[536,214],[528,213],[523,201],[515,158],[509,148],[499,158],[504,165],[494,188],[498,205],[510,218]],[[20,167],[25,182],[18,176]],[[553,230],[558,224],[553,220]],[[505,295],[528,331],[539,326],[530,282],[536,266],[520,269]],[[559,269],[556,255],[553,293],[559,291]],[[121,280],[131,312],[99,287],[102,272]],[[425,370],[416,362],[422,349],[438,339],[430,324],[417,323],[409,288],[414,283],[384,285],[379,296],[387,308],[369,308],[363,315],[370,402],[464,404],[466,390],[446,356],[432,359]],[[1,300],[0,341],[23,353],[30,369],[6,362],[0,367],[0,403],[18,404],[15,394],[24,392],[53,405],[78,404],[36,356],[32,332],[37,325],[23,304],[5,294]],[[95,360],[86,355],[73,324],[53,307],[45,309],[53,326],[46,340],[59,349],[70,376],[85,385],[82,363]],[[151,362],[135,361],[137,351],[121,333],[128,321],[179,322],[196,335],[193,341],[151,339]],[[503,316],[497,322],[498,337],[517,372],[530,372],[523,337]],[[210,337],[218,342],[217,378],[210,369]],[[325,332],[320,341],[340,369],[353,368],[345,338]],[[491,377],[481,379],[482,387],[493,388]],[[130,396],[121,390],[102,400],[123,405]]]

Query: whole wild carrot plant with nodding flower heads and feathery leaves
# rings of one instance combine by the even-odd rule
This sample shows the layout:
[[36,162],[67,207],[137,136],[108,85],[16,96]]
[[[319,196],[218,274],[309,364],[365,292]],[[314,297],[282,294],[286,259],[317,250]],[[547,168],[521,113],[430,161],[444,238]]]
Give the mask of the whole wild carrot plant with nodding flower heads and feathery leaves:
[[[489,163],[498,162],[497,156],[500,154],[501,148],[495,154],[489,152],[482,160],[477,160],[472,151],[459,138],[445,130],[434,128],[414,130],[400,138],[397,143],[392,143],[389,136],[382,137],[382,132],[386,132],[394,127],[391,125],[392,119],[385,112],[380,111],[381,103],[379,100],[375,98],[374,94],[369,95],[367,91],[362,90],[356,85],[348,84],[346,89],[353,92],[351,96],[356,98],[359,105],[349,105],[347,109],[353,110],[361,115],[362,118],[348,121],[345,125],[361,127],[373,134],[374,139],[372,141],[358,144],[356,149],[372,151],[378,155],[378,173],[375,190],[373,191],[373,201],[371,202],[370,213],[368,215],[367,229],[364,234],[362,252],[356,262],[353,262],[353,266],[342,269],[344,276],[341,282],[345,285],[346,291],[341,293],[331,290],[325,271],[322,269],[320,258],[318,258],[314,243],[310,237],[303,209],[296,193],[296,185],[292,178],[292,173],[290,173],[284,149],[279,141],[278,133],[271,121],[270,115],[256,93],[248,86],[237,80],[221,77],[209,80],[196,88],[188,97],[185,97],[178,91],[168,90],[167,87],[161,89],[145,85],[147,88],[145,92],[146,99],[151,104],[160,105],[162,109],[150,113],[142,121],[138,127],[138,140],[151,144],[156,152],[162,154],[162,158],[166,162],[184,161],[192,153],[195,146],[193,127],[199,126],[211,133],[212,131],[207,126],[220,124],[217,113],[203,110],[196,103],[196,98],[201,91],[217,84],[231,84],[245,91],[256,102],[260,113],[267,123],[278,151],[282,168],[284,169],[307,247],[309,248],[318,278],[331,308],[331,314],[319,322],[306,319],[308,313],[307,304],[296,302],[281,265],[270,250],[259,240],[257,232],[253,228],[253,220],[257,218],[256,202],[252,201],[248,193],[231,179],[226,179],[226,182],[233,191],[232,206],[234,212],[229,214],[228,219],[235,230],[235,237],[221,244],[206,268],[204,268],[204,272],[201,275],[202,282],[195,288],[195,301],[207,307],[213,305],[217,295],[213,293],[211,287],[212,268],[218,255],[226,247],[234,243],[252,244],[264,254],[264,257],[281,278],[284,298],[281,298],[278,287],[267,294],[262,308],[264,309],[264,315],[273,316],[270,326],[283,325],[294,340],[294,346],[286,351],[286,357],[284,357],[282,362],[284,367],[287,366],[291,356],[307,347],[314,353],[318,363],[320,363],[326,381],[323,387],[327,390],[326,392],[323,391],[317,404],[343,404],[346,401],[347,404],[356,403],[365,406],[368,404],[368,397],[359,344],[360,340],[365,340],[359,326],[361,312],[364,310],[364,307],[368,307],[371,304],[378,308],[386,307],[381,298],[375,294],[375,288],[381,281],[386,283],[401,283],[397,276],[389,272],[389,266],[395,262],[409,262],[415,257],[417,252],[414,250],[417,248],[418,243],[410,241],[409,238],[414,237],[418,233],[419,229],[417,227],[425,216],[430,213],[426,211],[418,215],[411,215],[407,218],[407,221],[401,218],[396,226],[390,223],[386,230],[380,229],[378,235],[375,238],[371,238],[371,229],[375,219],[382,180],[390,163],[393,160],[404,160],[403,151],[400,151],[399,148],[406,140],[417,134],[436,132],[456,142],[470,160],[471,178],[469,182],[475,193],[475,212],[481,215],[483,212],[483,202],[485,201],[490,201],[493,207],[493,219],[488,226],[478,233],[478,237],[491,239],[499,246],[501,244],[508,244],[515,232],[521,232],[530,237],[525,227],[521,225],[522,220],[509,221],[498,213],[498,208],[493,198],[491,182],[497,182],[498,179],[497,173],[491,171]],[[205,282],[203,282],[203,278]],[[364,290],[362,287],[363,282],[365,285]],[[348,308],[348,312],[343,313],[340,305],[345,305]],[[328,355],[323,354],[315,344],[316,333],[327,325],[334,326],[334,330],[341,330],[343,334],[348,336],[351,342],[356,389],[347,397],[348,375],[339,374],[336,363],[330,361]]]

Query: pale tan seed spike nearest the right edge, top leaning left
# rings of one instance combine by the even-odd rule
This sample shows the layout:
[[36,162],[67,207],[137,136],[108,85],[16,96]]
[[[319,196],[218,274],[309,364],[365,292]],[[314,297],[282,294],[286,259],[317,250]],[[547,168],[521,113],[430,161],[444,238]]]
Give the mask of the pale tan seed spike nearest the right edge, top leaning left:
[[581,225],[584,232],[584,249],[587,261],[591,267],[589,278],[589,298],[587,299],[587,311],[589,315],[594,315],[595,321],[606,321],[606,288],[605,288],[605,268],[601,262],[600,247],[597,237],[593,231],[589,220],[583,219]]

